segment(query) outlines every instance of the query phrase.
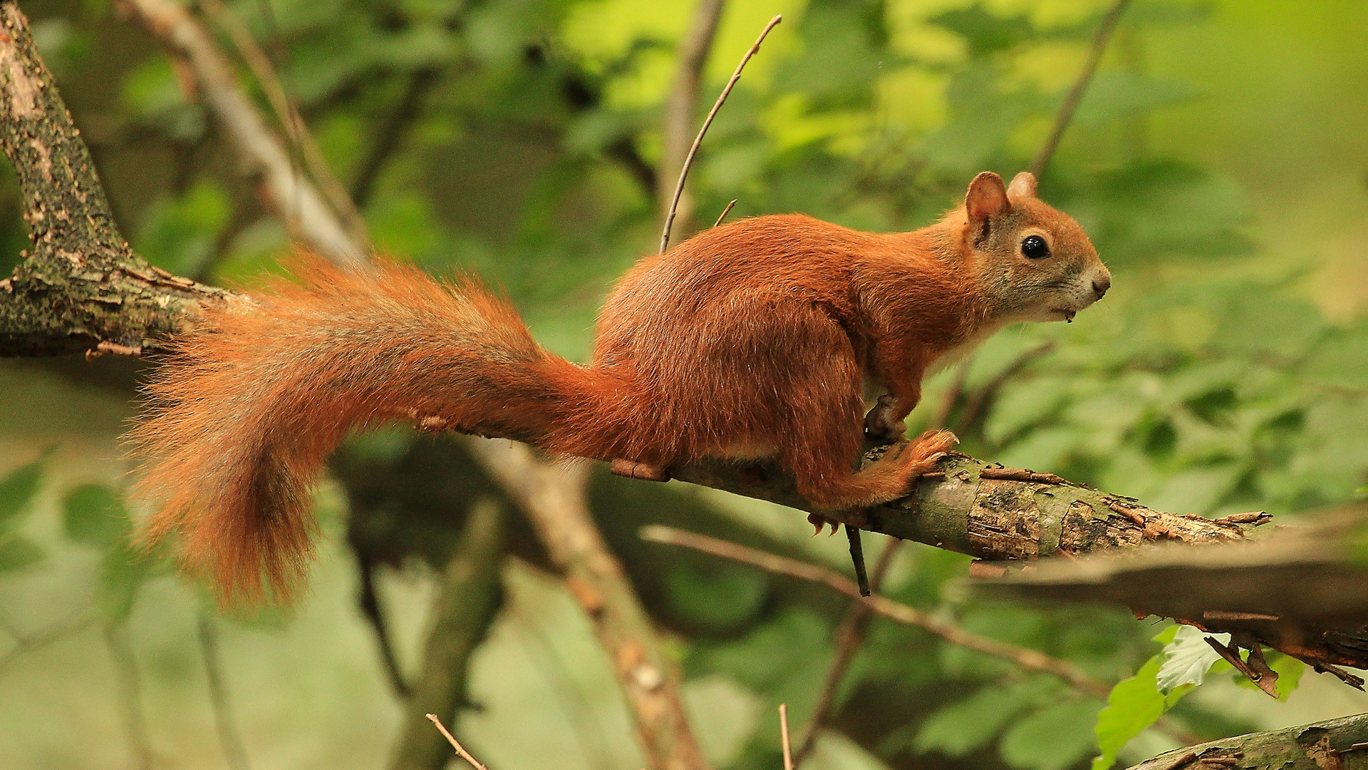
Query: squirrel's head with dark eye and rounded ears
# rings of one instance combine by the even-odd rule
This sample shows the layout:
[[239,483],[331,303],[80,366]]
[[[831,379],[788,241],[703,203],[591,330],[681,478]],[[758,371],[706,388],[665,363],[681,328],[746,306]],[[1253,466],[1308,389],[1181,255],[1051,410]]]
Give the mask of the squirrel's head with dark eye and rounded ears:
[[1111,288],[1088,234],[1036,197],[1029,171],[1007,186],[992,171],[974,177],[964,216],[964,245],[989,312],[1001,321],[1073,321]]

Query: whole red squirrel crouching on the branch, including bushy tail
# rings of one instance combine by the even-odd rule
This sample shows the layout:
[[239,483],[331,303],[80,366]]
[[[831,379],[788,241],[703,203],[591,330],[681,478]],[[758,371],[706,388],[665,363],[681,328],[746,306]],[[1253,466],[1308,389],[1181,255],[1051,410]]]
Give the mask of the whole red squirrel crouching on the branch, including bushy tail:
[[323,463],[386,421],[661,469],[774,458],[818,510],[895,500],[955,437],[932,430],[852,470],[869,384],[892,396],[882,438],[899,438],[938,360],[1008,323],[1071,321],[1111,286],[1034,177],[986,171],[921,230],[755,216],[644,258],[607,297],[587,366],[544,351],[473,278],[384,260],[304,259],[297,274],[207,311],[131,433],[134,495],[156,510],[145,537],[178,533],[226,597],[287,595],[312,555]]

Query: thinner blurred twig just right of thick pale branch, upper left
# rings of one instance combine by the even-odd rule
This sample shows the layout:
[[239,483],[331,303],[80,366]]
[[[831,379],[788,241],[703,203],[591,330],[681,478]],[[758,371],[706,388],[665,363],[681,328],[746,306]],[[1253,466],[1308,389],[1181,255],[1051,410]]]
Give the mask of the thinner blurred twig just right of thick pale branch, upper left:
[[252,70],[252,74],[261,85],[261,90],[265,93],[267,101],[271,103],[271,110],[275,111],[276,119],[285,127],[290,142],[300,149],[309,175],[332,206],[332,212],[342,218],[342,222],[354,238],[365,240],[365,219],[361,218],[361,212],[357,211],[346,188],[338,182],[332,170],[328,169],[328,163],[323,158],[323,151],[319,149],[319,142],[313,140],[313,133],[309,132],[294,100],[290,99],[285,86],[280,85],[280,77],[275,73],[271,58],[261,51],[261,47],[257,45],[256,38],[252,37],[248,27],[222,0],[198,0],[198,3],[219,27],[227,33],[228,40],[233,41],[233,47],[237,48],[238,55],[242,56],[242,60]]

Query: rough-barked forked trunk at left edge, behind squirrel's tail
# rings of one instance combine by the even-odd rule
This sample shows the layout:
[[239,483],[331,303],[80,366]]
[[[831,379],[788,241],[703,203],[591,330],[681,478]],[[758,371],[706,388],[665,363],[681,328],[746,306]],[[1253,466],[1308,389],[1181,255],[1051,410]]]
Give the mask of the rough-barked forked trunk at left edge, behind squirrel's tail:
[[16,3],[0,3],[0,144],[31,243],[0,281],[0,355],[157,349],[204,303],[234,295],[152,267],[129,248]]

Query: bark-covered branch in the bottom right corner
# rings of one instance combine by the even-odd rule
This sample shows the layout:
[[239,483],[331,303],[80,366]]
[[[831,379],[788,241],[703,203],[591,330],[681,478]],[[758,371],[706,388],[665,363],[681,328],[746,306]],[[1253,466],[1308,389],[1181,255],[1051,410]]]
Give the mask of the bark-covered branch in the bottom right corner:
[[1368,714],[1179,748],[1130,770],[1347,770],[1364,763],[1368,763]]

